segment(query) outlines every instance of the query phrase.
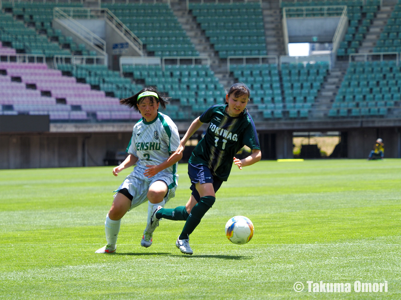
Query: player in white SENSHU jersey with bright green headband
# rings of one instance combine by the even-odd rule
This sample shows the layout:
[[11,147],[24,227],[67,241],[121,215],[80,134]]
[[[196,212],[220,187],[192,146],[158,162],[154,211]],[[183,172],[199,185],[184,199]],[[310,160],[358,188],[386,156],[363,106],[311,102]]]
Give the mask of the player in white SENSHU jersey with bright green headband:
[[[180,136],[174,122],[158,112],[159,105],[166,108],[166,99],[155,87],[148,87],[120,103],[134,107],[142,119],[134,125],[132,138],[127,147],[128,157],[113,169],[113,175],[136,163],[134,171],[115,191],[114,201],[106,215],[105,232],[107,245],[95,253],[113,253],[116,250],[121,218],[130,209],[148,201],[148,220],[152,207],[164,204],[174,197],[178,184],[177,166],[181,156],[168,158],[180,145]],[[154,229],[144,230],[141,245],[152,245]]]

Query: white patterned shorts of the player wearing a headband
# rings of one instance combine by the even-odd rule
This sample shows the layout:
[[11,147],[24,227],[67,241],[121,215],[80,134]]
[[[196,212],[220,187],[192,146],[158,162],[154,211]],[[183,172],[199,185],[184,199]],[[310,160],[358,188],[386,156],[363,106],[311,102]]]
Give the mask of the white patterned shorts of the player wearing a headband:
[[[130,175],[126,177],[124,182],[118,187],[118,189],[115,190],[115,192],[118,193],[120,189],[128,189],[128,192],[133,197],[130,210],[148,201],[147,193],[149,187],[152,185],[152,183],[158,180],[164,181],[164,183],[166,183],[168,186],[168,191],[164,197],[164,201],[167,202],[175,196],[175,191],[178,185],[178,175],[160,172],[155,176],[148,178],[144,176],[144,171],[145,169],[135,167],[134,171],[132,171]],[[117,193],[115,195],[117,195]]]

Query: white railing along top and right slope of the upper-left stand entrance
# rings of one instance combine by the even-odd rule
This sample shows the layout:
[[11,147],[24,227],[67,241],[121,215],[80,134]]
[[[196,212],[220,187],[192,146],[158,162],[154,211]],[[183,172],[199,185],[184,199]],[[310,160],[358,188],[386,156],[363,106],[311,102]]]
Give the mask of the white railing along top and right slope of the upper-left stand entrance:
[[142,41],[128,28],[119,18],[117,18],[108,8],[83,8],[83,7],[60,7],[70,18],[75,19],[104,19],[111,22],[132,44],[142,53]]

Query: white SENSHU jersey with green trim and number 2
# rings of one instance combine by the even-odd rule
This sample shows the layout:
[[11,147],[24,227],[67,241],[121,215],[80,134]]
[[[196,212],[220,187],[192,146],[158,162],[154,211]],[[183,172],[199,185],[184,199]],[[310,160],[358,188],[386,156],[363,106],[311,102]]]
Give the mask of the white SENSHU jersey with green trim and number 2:
[[[148,169],[146,165],[160,165],[177,150],[180,135],[174,122],[162,113],[148,123],[143,118],[134,125],[132,138],[127,152],[138,157],[136,168]],[[160,173],[176,175],[178,163],[164,169]]]

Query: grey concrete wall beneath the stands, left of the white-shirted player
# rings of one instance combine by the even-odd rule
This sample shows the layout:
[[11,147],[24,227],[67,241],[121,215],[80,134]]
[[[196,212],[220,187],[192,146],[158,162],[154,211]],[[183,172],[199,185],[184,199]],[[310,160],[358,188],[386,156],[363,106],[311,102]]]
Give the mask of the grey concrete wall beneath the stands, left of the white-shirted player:
[[0,135],[0,169],[104,165],[106,152],[125,150],[131,135],[132,133]]

